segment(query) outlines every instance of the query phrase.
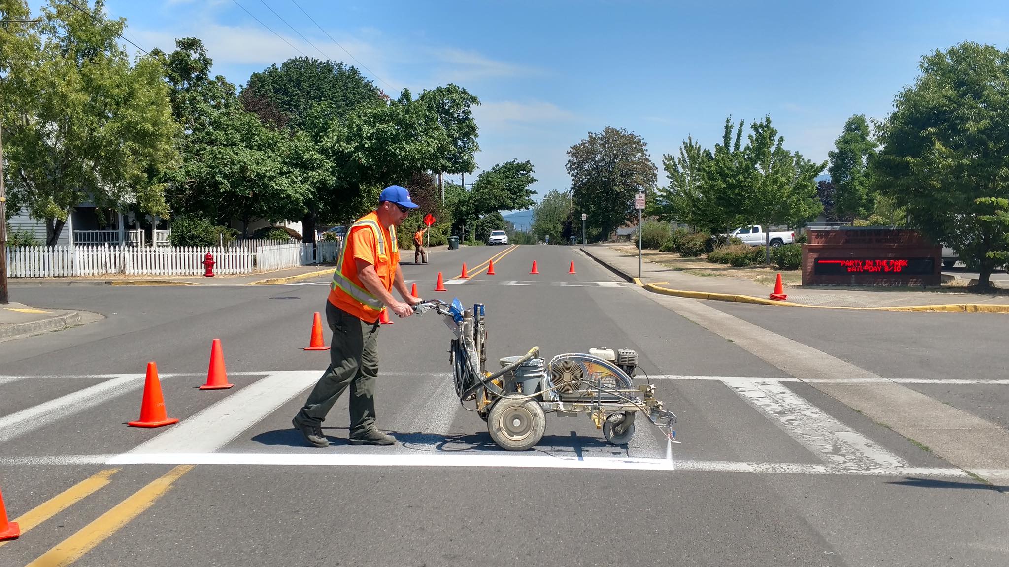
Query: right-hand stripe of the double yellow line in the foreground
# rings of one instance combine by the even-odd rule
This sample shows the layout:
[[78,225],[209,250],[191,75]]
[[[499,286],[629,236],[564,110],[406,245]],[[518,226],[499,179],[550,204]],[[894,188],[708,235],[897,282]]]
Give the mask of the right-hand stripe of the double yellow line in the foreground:
[[170,470],[160,478],[133,492],[91,524],[81,528],[73,536],[57,544],[54,548],[43,553],[26,567],[65,567],[74,563],[150,507],[169,491],[173,482],[179,480],[179,477],[193,467],[194,465],[179,465]]

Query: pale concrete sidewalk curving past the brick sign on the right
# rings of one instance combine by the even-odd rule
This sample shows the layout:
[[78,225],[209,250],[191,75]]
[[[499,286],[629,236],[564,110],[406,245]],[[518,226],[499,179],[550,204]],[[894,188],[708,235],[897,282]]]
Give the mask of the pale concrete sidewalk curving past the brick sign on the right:
[[[628,280],[633,280],[638,276],[638,257],[625,254],[615,249],[613,245],[590,244],[582,246],[581,250]],[[643,285],[658,284],[658,286],[667,290],[746,296],[762,300],[766,300],[772,292],[770,287],[761,286],[748,278],[728,276],[702,277],[648,260],[642,261],[641,281]],[[789,304],[811,307],[888,308],[940,305],[1002,305],[1006,306],[1005,309],[1009,311],[1009,296],[998,295],[962,294],[944,291],[907,292],[894,291],[887,288],[871,291],[851,290],[847,288],[786,288],[785,294],[788,295]],[[725,299],[724,301],[734,300]]]

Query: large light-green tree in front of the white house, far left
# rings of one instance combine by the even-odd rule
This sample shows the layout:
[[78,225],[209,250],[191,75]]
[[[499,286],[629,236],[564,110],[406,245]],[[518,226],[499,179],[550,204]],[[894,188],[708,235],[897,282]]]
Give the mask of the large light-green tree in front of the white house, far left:
[[[167,215],[156,173],[179,163],[167,87],[155,58],[130,64],[124,19],[49,0],[41,22],[4,25],[0,115],[12,201],[45,222],[54,244],[82,201]],[[25,17],[8,0],[4,17]],[[8,50],[9,49],[9,50]]]

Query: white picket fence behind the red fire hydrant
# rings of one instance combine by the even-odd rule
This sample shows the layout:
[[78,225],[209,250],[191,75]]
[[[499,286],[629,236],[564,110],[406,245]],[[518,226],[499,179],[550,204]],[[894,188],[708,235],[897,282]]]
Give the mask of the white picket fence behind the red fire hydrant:
[[203,261],[214,256],[214,273],[233,275],[334,261],[339,242],[277,243],[238,241],[226,246],[18,246],[7,248],[8,277],[127,275],[203,275]]

